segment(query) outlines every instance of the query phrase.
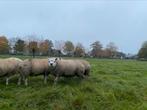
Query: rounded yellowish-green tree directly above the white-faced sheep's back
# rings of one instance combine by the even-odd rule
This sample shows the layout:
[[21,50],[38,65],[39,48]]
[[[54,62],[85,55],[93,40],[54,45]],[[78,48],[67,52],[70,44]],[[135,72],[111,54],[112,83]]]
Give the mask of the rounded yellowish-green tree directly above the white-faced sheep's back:
[[71,56],[73,55],[73,51],[74,51],[74,45],[71,41],[66,41],[65,45],[64,45],[64,52]]

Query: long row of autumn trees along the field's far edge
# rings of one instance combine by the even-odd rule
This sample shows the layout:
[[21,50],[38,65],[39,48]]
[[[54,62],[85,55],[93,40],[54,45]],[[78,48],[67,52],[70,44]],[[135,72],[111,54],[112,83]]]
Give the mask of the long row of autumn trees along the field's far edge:
[[[72,41],[42,40],[36,36],[25,38],[10,38],[0,36],[0,54],[15,55],[41,55],[41,56],[72,56],[72,57],[97,57],[97,58],[126,58],[123,52],[118,51],[118,47],[110,42],[106,48],[100,41],[93,42],[87,50],[82,43],[74,44]],[[141,53],[141,52],[139,52]]]

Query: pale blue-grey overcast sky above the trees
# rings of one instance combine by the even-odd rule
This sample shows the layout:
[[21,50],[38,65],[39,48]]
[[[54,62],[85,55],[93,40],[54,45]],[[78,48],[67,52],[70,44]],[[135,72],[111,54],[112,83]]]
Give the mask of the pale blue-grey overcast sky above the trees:
[[147,40],[147,2],[140,0],[1,0],[0,35],[50,40],[114,42],[120,51],[137,53]]

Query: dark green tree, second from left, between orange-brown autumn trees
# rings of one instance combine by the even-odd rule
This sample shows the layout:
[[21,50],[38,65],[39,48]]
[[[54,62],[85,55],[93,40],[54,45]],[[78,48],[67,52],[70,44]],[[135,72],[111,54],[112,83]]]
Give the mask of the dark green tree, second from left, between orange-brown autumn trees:
[[18,39],[15,43],[14,49],[16,53],[23,53],[25,47],[25,41],[22,39]]

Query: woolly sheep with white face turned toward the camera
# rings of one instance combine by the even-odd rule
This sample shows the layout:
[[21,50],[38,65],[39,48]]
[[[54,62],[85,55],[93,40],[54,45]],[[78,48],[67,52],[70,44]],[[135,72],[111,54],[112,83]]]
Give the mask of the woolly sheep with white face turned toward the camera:
[[52,74],[55,76],[54,84],[57,83],[60,76],[85,78],[85,66],[81,62],[75,60],[48,59],[48,64],[52,69]]

